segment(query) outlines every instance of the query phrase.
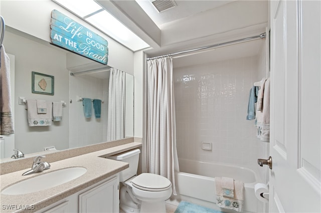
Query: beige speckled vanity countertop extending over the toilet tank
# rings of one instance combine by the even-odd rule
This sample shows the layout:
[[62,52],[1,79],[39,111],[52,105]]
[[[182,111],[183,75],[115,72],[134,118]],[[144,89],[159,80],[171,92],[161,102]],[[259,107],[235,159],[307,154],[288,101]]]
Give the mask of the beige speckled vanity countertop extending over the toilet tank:
[[[118,172],[128,168],[128,163],[111,160],[104,157],[140,146],[141,143],[132,142],[56,162],[51,162],[50,169],[26,176],[22,176],[22,173],[28,171],[30,168],[0,175],[0,187],[1,190],[3,190],[7,186],[16,182],[58,169],[77,166],[85,167],[87,169],[87,172],[82,176],[46,190],[19,195],[1,194],[1,212],[34,212],[84,188],[87,188],[88,186],[91,186],[103,179],[117,174]],[[46,160],[46,158],[44,160]],[[9,209],[10,205],[12,209]],[[34,209],[19,209],[20,205],[29,205]]]

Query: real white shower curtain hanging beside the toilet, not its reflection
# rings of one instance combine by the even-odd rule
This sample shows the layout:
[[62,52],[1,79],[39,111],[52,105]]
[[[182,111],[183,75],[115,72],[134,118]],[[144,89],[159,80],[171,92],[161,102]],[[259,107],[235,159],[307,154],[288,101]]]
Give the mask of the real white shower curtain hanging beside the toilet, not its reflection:
[[145,172],[169,178],[176,195],[175,170],[179,170],[176,149],[175,102],[172,58],[147,62],[146,125],[143,143]]

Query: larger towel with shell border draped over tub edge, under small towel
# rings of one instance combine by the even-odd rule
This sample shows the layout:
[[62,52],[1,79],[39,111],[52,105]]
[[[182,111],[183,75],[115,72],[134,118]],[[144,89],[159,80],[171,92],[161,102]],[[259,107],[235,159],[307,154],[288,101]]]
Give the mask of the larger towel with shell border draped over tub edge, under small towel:
[[222,177],[215,177],[216,204],[222,208],[242,211],[244,203],[244,182],[234,180],[234,197],[223,196],[222,184]]

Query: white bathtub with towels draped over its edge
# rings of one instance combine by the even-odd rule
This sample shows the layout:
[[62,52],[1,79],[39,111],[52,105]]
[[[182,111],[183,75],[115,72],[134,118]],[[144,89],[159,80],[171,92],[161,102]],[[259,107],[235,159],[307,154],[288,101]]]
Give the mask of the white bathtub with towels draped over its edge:
[[180,172],[176,172],[177,198],[224,212],[236,212],[216,205],[215,177],[232,177],[244,182],[243,212],[263,212],[263,203],[254,195],[258,175],[248,168],[231,165],[179,159]]

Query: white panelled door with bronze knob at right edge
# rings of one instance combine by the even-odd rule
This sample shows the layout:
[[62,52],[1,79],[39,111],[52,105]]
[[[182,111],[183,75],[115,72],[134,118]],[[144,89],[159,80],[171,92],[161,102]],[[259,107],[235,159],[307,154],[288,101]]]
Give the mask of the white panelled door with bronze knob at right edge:
[[270,212],[321,212],[321,1],[270,1]]

